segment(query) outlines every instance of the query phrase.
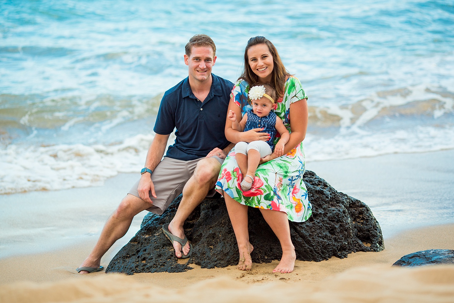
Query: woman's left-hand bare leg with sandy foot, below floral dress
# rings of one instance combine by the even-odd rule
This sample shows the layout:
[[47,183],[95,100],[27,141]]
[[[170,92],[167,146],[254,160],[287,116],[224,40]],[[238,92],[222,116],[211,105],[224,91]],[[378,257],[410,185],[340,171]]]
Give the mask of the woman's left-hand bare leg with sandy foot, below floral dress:
[[239,270],[251,270],[252,259],[251,253],[254,249],[249,242],[249,230],[247,229],[247,206],[238,203],[232,199],[228,194],[224,194],[226,200],[227,212],[232,222],[233,231],[237,238],[238,251],[240,253],[240,260],[238,262]]

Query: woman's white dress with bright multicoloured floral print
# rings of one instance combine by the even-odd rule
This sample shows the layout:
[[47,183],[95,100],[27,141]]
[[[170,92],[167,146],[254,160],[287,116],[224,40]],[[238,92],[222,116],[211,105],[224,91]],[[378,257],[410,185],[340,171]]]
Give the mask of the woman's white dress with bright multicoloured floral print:
[[[241,108],[242,116],[252,106],[248,103],[249,84],[238,80],[230,97]],[[285,84],[283,98],[277,100],[274,111],[282,119],[285,127],[290,130],[290,104],[305,99],[306,94],[301,83],[290,76]],[[276,137],[279,134],[276,134]],[[277,143],[279,137],[274,140]],[[305,156],[303,144],[296,146],[288,154],[268,161],[257,168],[252,188],[241,190],[242,173],[235,160],[235,148],[227,155],[217,179],[216,189],[222,190],[237,202],[262,209],[283,211],[289,220],[304,222],[312,214],[311,203],[307,199],[307,189],[303,182]]]

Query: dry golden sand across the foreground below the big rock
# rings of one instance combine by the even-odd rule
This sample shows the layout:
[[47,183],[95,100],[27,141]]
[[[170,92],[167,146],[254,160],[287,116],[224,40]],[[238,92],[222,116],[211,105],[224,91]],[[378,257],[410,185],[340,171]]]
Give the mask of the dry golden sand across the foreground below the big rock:
[[[454,265],[395,268],[419,250],[454,248],[454,224],[419,228],[385,240],[380,253],[322,262],[297,261],[274,274],[277,261],[185,273],[75,272],[93,243],[0,260],[0,302],[454,302]],[[32,282],[33,281],[33,282]]]

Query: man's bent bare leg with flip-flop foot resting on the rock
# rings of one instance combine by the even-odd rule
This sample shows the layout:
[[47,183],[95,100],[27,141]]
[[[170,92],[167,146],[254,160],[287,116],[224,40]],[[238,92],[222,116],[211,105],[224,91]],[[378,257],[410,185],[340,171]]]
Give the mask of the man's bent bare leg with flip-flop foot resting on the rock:
[[[208,191],[214,188],[220,170],[221,164],[217,159],[205,158],[197,163],[194,174],[183,188],[183,199],[181,199],[177,213],[169,223],[170,233],[184,239],[184,221],[207,196]],[[178,258],[181,258],[182,250],[184,255],[189,253],[189,243],[182,248],[180,243],[173,241],[173,248],[175,248],[175,255]]]

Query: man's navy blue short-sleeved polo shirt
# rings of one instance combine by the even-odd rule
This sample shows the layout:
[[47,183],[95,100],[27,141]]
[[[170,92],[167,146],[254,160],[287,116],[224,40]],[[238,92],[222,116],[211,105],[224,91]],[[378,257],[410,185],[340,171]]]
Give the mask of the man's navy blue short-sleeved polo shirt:
[[192,94],[189,77],[164,94],[153,130],[156,134],[171,134],[177,129],[177,139],[169,146],[166,157],[195,160],[230,144],[224,128],[233,83],[211,75],[211,89],[203,102]]

